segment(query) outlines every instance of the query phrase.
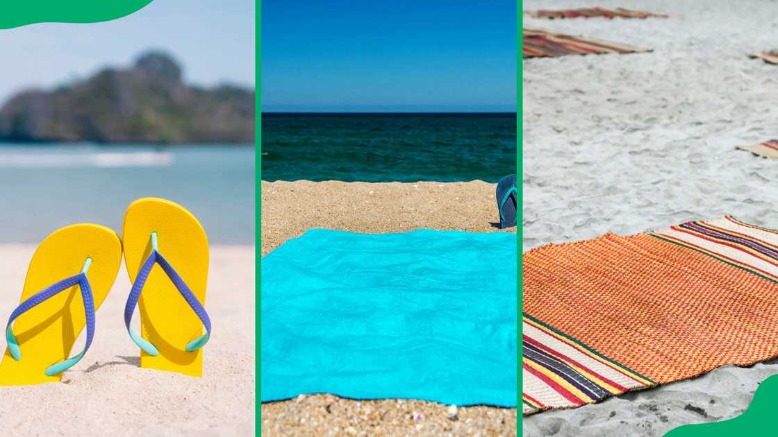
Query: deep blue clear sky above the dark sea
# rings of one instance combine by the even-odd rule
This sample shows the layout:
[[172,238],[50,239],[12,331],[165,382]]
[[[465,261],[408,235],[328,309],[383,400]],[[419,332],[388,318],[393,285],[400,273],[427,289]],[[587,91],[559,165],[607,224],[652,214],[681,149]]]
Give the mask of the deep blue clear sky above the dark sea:
[[263,111],[515,111],[513,0],[264,0]]

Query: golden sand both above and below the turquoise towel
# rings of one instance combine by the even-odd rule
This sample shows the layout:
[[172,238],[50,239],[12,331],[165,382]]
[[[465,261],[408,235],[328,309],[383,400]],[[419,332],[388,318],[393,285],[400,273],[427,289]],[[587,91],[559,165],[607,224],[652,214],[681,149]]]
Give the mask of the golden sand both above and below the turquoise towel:
[[[261,253],[307,229],[405,232],[500,231],[496,184],[262,182]],[[422,400],[349,400],[326,394],[261,405],[263,435],[516,435],[516,408],[460,407]]]

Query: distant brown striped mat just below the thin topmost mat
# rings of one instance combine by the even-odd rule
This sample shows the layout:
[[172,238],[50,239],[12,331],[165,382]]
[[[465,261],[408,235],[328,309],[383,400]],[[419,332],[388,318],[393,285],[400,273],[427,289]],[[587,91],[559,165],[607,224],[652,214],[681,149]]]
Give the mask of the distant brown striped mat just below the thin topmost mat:
[[618,44],[593,38],[573,37],[563,33],[524,27],[522,29],[524,58],[557,57],[566,54],[638,53],[649,48]]

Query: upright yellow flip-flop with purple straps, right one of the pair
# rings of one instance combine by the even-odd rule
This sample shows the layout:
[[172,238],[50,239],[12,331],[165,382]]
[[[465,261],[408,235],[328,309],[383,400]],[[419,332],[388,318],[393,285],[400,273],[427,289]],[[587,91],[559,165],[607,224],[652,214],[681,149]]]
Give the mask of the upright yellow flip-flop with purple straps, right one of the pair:
[[[180,205],[142,198],[127,208],[122,242],[133,283],[124,323],[141,348],[141,367],[202,376],[202,346],[211,334],[204,308],[209,263],[205,230]],[[141,335],[130,326],[136,304]]]

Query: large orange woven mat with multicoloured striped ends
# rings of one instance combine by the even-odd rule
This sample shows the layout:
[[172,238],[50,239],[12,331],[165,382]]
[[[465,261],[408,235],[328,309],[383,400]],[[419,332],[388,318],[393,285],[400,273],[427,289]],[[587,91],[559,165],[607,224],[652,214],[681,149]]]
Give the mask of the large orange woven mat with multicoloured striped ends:
[[726,216],[522,257],[524,414],[778,356],[778,231]]

